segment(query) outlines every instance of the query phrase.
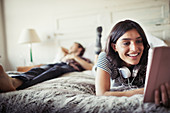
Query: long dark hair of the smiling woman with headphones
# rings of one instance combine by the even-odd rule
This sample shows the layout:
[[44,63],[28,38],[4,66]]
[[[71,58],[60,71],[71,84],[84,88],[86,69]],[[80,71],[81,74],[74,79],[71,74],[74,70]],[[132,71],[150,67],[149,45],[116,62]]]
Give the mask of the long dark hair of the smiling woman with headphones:
[[121,66],[122,60],[119,57],[118,53],[113,50],[111,44],[112,43],[116,44],[117,40],[123,34],[125,34],[127,31],[132,30],[132,29],[137,30],[139,35],[142,37],[142,41],[143,41],[144,50],[143,50],[143,54],[142,54],[142,57],[141,57],[139,64],[140,65],[146,65],[147,64],[148,50],[149,50],[150,46],[148,44],[145,33],[138,23],[136,23],[132,20],[125,20],[125,21],[121,21],[121,22],[117,23],[112,28],[112,30],[111,30],[108,38],[107,38],[107,42],[106,42],[105,52],[107,54],[107,57],[117,67]]

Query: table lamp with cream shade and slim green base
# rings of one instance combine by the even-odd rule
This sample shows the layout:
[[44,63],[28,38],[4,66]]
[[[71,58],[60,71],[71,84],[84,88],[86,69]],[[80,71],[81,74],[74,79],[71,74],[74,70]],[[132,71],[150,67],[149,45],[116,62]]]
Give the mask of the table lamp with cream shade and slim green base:
[[30,62],[33,63],[32,57],[32,43],[40,42],[36,31],[34,29],[24,29],[20,35],[18,43],[30,45]]

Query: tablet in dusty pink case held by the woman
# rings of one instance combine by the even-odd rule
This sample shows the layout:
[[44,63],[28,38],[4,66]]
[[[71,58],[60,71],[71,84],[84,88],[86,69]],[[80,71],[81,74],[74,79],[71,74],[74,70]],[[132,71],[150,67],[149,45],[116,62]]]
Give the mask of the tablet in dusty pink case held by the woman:
[[156,47],[149,54],[144,88],[144,102],[154,102],[154,90],[170,82],[170,47]]

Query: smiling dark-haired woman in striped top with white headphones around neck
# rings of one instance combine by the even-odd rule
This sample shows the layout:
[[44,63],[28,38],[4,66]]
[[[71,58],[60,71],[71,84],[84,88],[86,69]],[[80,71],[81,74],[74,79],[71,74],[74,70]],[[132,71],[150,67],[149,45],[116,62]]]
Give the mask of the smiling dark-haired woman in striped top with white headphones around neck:
[[[98,57],[96,95],[130,97],[143,94],[149,48],[138,23],[131,20],[117,23],[107,38],[105,52]],[[112,91],[112,87],[123,87],[126,91]],[[161,93],[168,95],[168,91],[167,88]]]

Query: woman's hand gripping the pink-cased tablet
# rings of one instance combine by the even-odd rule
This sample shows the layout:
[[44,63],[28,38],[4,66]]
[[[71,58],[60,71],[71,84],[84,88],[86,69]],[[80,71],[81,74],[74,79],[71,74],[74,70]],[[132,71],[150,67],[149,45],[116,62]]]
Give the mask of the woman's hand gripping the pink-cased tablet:
[[155,90],[155,104],[163,104],[170,108],[170,82],[162,84],[159,89]]

